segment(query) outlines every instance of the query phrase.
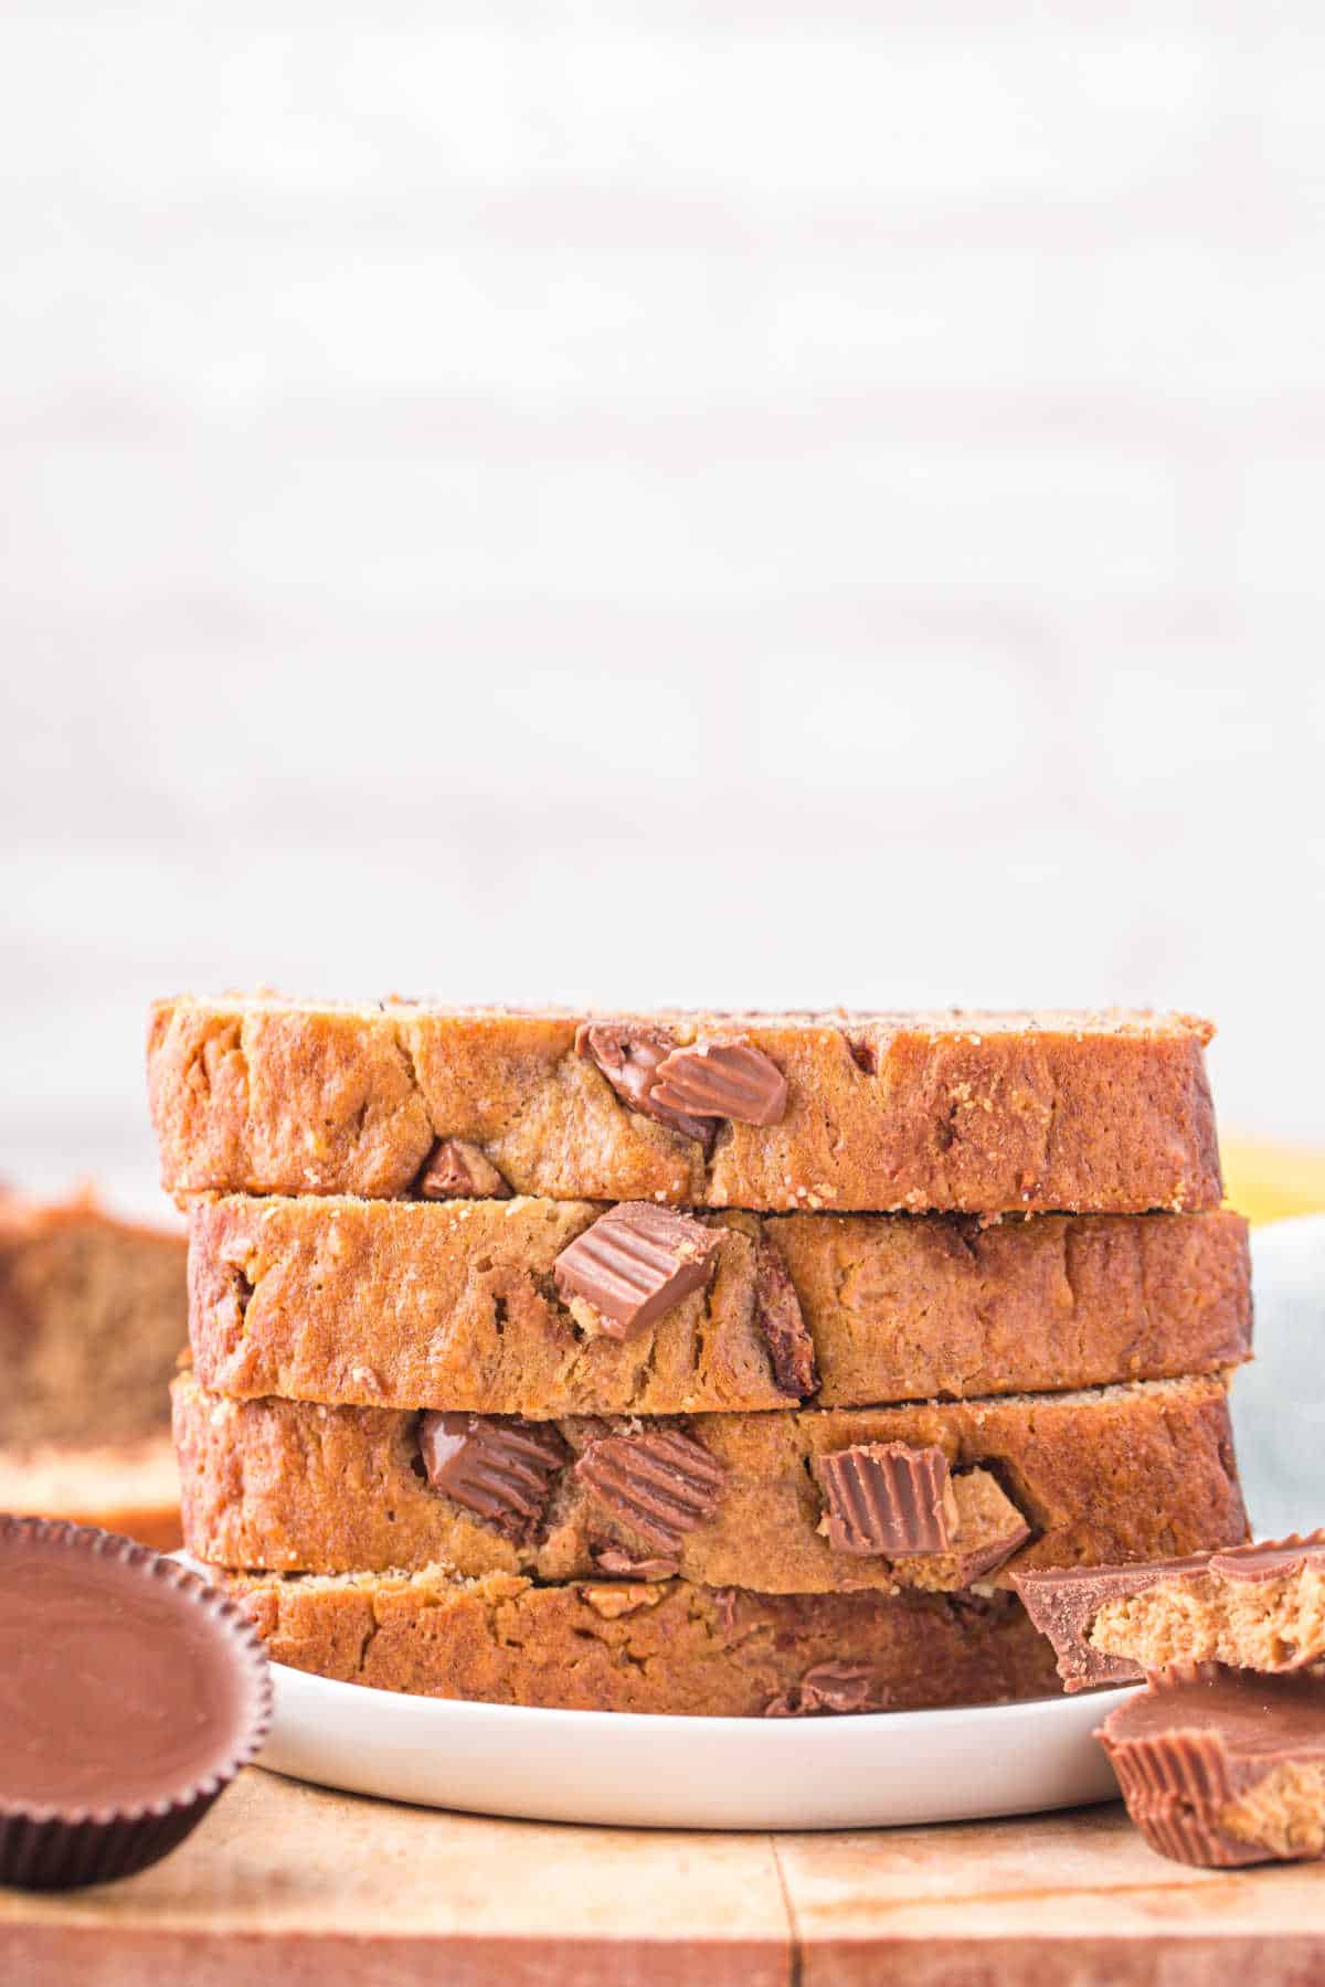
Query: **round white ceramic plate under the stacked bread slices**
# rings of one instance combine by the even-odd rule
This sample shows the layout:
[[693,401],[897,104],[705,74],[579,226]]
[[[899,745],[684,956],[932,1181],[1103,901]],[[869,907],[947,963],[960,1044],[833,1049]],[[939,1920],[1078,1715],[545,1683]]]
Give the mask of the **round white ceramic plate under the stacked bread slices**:
[[1126,1691],[963,1711],[667,1719],[524,1711],[276,1663],[262,1764],[433,1808],[626,1828],[874,1828],[1112,1800],[1091,1733]]

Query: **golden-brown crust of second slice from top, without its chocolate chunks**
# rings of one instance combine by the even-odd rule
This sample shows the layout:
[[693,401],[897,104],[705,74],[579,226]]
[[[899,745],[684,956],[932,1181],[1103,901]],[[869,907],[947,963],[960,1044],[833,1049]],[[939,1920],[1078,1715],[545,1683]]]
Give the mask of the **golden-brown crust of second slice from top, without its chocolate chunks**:
[[763,1236],[814,1341],[820,1407],[1033,1393],[1236,1365],[1250,1349],[1246,1222],[1037,1216],[711,1216],[705,1290],[624,1339],[588,1335],[552,1266],[602,1210],[578,1200],[230,1196],[191,1216],[203,1383],[238,1399],[485,1415],[787,1407],[759,1323]]

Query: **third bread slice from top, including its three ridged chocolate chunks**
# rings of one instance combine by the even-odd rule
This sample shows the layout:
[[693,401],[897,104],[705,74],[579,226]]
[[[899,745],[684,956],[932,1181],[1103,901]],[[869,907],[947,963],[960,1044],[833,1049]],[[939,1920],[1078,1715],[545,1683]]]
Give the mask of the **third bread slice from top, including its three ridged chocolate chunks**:
[[685,1421],[411,1415],[175,1383],[185,1540],[272,1572],[677,1572],[820,1594],[1246,1538],[1224,1383]]

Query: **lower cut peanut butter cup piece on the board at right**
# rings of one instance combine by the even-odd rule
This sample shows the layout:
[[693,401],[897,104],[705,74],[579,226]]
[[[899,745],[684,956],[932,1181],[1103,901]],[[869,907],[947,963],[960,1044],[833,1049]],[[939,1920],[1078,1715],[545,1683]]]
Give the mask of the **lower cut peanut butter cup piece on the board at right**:
[[1174,1665],[1097,1739],[1128,1814],[1178,1862],[1230,1866],[1325,1850],[1325,1679]]

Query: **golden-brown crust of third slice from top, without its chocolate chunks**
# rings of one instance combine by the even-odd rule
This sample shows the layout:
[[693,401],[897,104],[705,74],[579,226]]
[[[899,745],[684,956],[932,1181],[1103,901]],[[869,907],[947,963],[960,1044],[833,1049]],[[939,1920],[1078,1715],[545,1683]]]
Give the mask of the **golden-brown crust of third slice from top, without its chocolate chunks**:
[[[596,1437],[642,1427],[658,1425],[558,1423],[576,1454]],[[971,1470],[956,1486],[961,1494],[969,1484],[973,1504],[993,1472],[1005,1492],[1001,1520],[1011,1500],[1033,1528],[1029,1544],[985,1574],[1001,1586],[1031,1566],[1146,1560],[1246,1538],[1218,1379],[922,1407],[699,1415],[685,1433],[727,1472],[715,1518],[669,1548],[681,1576],[701,1586],[783,1594],[961,1586],[963,1558],[983,1540],[957,1536],[946,1558],[896,1562],[830,1550],[818,1530],[814,1458],[856,1443],[940,1447],[954,1472]],[[185,1538],[197,1558],[219,1566],[334,1574],[447,1560],[463,1574],[570,1580],[592,1576],[604,1540],[636,1556],[658,1550],[574,1466],[552,1490],[542,1536],[503,1536],[427,1486],[417,1417],[393,1409],[238,1403],[183,1375],[175,1435]]]

